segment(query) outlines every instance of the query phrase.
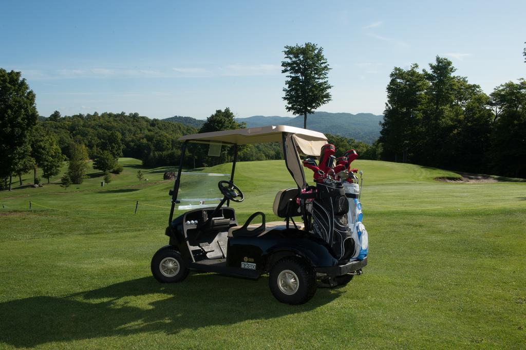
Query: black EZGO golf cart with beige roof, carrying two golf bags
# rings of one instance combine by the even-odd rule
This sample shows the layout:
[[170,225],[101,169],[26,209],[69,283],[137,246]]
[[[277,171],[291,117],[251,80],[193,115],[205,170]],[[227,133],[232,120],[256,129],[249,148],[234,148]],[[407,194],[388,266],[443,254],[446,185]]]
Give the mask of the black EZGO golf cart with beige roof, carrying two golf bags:
[[[336,287],[347,284],[354,275],[362,273],[362,267],[367,265],[367,250],[361,249],[360,243],[355,242],[356,238],[353,239],[350,234],[334,238],[343,229],[340,227],[338,231],[335,223],[348,224],[347,212],[350,209],[346,205],[347,199],[355,204],[352,214],[360,215],[361,225],[357,192],[347,194],[348,191],[344,191],[341,185],[329,186],[326,183],[317,184],[319,188],[316,189],[309,187],[305,179],[300,155],[319,157],[320,149],[327,144],[325,135],[278,125],[186,135],[179,141],[183,145],[177,178],[170,191],[171,209],[165,232],[169,244],[160,248],[151,260],[151,272],[157,281],[183,281],[189,270],[250,279],[268,273],[270,290],[278,301],[302,304],[312,298],[318,285]],[[266,222],[265,214],[256,212],[240,225],[234,208],[230,207],[230,202],[240,203],[245,198],[234,178],[238,145],[269,142],[280,144],[285,165],[297,186],[282,189],[276,195],[273,211],[282,221]],[[188,143],[209,144],[209,154],[218,153],[221,145],[234,147],[231,173],[183,172]],[[181,187],[184,183],[181,177],[196,175],[201,176],[199,184],[205,181],[201,179],[215,183],[218,177],[224,178],[214,186],[216,198],[203,198],[203,194],[214,195],[213,192],[206,192],[209,190],[205,190],[205,186],[198,186],[200,197],[183,198],[190,194],[185,194],[184,187]],[[322,187],[329,189],[324,192]],[[222,197],[217,196],[219,192]],[[179,196],[180,193],[184,195]],[[219,203],[210,206],[209,202],[214,199]],[[183,205],[185,201],[197,204]],[[328,214],[328,221],[316,219],[317,213],[326,211],[323,203],[325,208],[329,205],[334,212]],[[179,210],[189,210],[174,219],[176,205]],[[336,208],[338,206],[339,209]],[[352,225],[357,222],[358,216],[355,216]],[[318,233],[320,231],[327,234]],[[365,229],[361,228],[361,237],[366,237],[367,232],[365,235],[364,232]]]

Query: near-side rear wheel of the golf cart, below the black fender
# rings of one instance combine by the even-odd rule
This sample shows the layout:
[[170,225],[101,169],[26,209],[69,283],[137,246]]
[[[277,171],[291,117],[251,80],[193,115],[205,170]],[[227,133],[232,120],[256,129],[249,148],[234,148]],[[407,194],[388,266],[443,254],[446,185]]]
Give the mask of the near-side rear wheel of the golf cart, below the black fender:
[[272,266],[268,284],[281,303],[304,304],[316,293],[316,273],[303,259],[286,257]]

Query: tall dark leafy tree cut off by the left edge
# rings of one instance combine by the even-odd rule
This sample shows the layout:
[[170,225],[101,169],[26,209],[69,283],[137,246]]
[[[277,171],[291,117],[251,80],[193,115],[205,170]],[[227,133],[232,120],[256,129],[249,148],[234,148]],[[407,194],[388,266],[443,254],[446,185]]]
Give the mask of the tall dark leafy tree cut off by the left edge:
[[26,79],[0,68],[0,177],[9,177],[10,183],[24,165],[19,163],[25,162],[28,133],[37,119],[35,93]]

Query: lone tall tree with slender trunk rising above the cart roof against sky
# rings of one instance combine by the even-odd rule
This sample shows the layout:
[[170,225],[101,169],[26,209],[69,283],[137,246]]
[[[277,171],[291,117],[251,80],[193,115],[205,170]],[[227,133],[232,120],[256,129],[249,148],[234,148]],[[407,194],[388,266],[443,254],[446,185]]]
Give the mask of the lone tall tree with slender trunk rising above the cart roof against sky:
[[288,112],[304,116],[307,128],[307,114],[331,101],[327,76],[330,71],[323,48],[316,44],[285,46],[285,61],[281,73],[287,74],[284,101]]

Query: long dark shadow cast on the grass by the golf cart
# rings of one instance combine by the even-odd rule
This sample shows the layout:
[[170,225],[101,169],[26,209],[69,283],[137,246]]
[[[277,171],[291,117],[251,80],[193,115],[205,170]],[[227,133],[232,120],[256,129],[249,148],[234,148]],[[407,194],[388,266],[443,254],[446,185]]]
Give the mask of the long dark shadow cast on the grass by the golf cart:
[[[225,278],[228,280],[225,281]],[[0,343],[33,347],[105,336],[230,325],[301,314],[341,294],[319,289],[307,304],[281,304],[257,282],[194,273],[182,284],[133,279],[65,297],[35,296],[0,303]]]

